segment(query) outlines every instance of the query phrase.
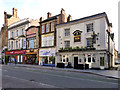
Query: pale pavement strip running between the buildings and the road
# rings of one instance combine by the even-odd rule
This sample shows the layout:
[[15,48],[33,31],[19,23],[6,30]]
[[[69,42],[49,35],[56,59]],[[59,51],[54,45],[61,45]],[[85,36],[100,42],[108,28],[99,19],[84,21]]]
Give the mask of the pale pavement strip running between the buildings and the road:
[[[15,65],[15,64],[10,64]],[[37,69],[49,69],[49,70],[57,70],[57,71],[69,71],[69,72],[80,72],[80,73],[89,73],[99,76],[104,76],[108,78],[120,79],[120,71],[116,70],[80,70],[73,68],[57,68],[57,67],[49,67],[49,66],[40,66],[40,65],[28,65],[28,64],[16,64],[17,67],[28,67],[28,68],[37,68]]]

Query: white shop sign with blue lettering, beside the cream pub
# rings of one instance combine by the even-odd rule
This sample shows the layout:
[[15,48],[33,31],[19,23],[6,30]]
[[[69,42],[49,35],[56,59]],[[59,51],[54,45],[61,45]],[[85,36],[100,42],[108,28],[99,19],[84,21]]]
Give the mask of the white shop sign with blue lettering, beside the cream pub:
[[56,49],[39,50],[39,56],[55,56]]

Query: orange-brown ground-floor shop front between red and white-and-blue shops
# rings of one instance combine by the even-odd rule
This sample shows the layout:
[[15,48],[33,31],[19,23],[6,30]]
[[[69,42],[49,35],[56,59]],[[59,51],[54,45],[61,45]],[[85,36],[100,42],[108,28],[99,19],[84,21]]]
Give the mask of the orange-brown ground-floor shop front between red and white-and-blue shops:
[[38,49],[29,49],[29,50],[26,50],[25,63],[26,64],[36,64],[36,65],[38,65],[38,63],[39,63]]

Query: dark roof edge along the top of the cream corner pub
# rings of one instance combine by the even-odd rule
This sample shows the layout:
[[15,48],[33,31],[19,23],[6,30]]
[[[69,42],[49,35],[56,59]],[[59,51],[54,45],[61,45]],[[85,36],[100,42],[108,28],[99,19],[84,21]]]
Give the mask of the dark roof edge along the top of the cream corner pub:
[[111,23],[109,23],[107,14],[105,12],[103,12],[103,13],[98,13],[98,14],[95,14],[95,15],[83,17],[83,18],[80,18],[80,19],[72,20],[70,22],[61,23],[61,24],[58,24],[57,26],[65,25],[65,24],[70,24],[70,23],[74,23],[74,22],[78,22],[78,21],[83,21],[83,20],[87,20],[87,19],[92,19],[92,18],[96,18],[96,17],[99,17],[99,16],[105,16],[108,25],[109,26],[111,25]]

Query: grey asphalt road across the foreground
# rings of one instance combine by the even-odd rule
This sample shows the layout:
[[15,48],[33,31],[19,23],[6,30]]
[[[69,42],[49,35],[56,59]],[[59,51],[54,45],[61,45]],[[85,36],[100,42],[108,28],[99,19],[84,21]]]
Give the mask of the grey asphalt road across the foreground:
[[6,65],[2,66],[2,88],[118,88],[118,80],[86,73]]

